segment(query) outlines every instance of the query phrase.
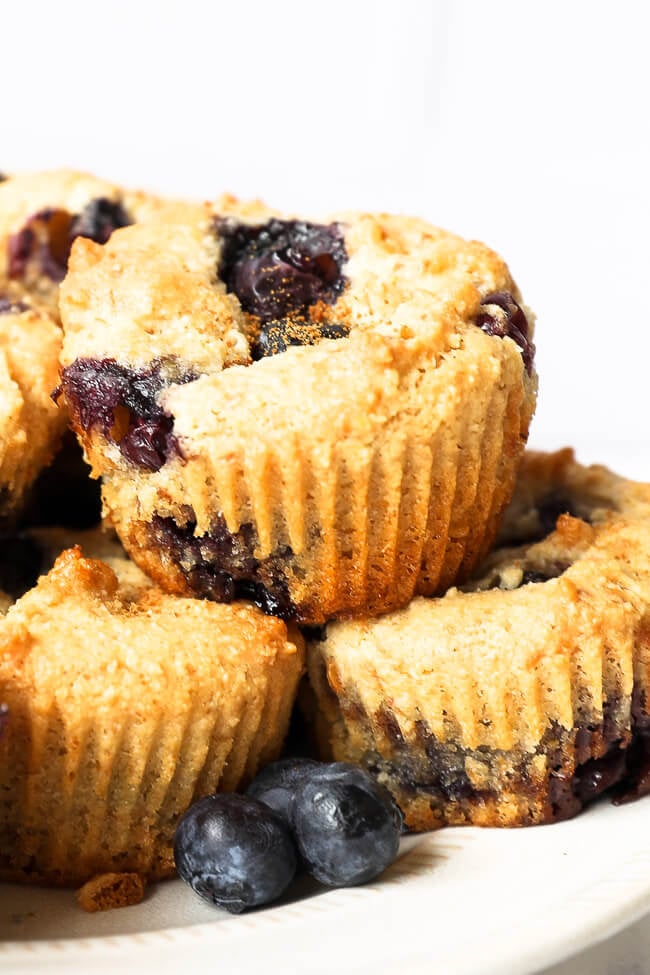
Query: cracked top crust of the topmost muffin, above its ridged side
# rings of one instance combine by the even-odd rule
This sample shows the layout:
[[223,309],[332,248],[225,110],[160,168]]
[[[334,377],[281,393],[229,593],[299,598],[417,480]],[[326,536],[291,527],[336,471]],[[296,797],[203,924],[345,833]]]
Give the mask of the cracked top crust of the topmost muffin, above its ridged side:
[[[451,360],[463,352],[470,384],[472,359],[519,362],[532,400],[532,319],[519,302],[493,251],[422,220],[316,224],[226,197],[201,219],[73,245],[60,299],[63,389],[77,425],[112,439],[119,402],[138,410],[116,387],[137,388],[142,414],[183,426],[188,456],[201,437],[231,449],[233,438],[308,425],[326,439],[363,426],[370,440],[426,395],[414,370],[439,369],[435,412],[453,410]],[[237,365],[253,368],[224,373]],[[128,453],[126,431],[117,436]],[[168,446],[173,454],[177,443]],[[162,466],[165,453],[142,466]]]

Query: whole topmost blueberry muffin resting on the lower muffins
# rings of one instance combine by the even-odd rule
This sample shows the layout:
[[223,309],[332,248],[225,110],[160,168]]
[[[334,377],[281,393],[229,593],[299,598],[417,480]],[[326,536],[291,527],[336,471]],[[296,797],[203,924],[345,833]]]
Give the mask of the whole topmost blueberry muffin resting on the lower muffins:
[[225,198],[76,241],[61,315],[106,513],[167,590],[317,624],[444,588],[493,540],[536,376],[484,245]]

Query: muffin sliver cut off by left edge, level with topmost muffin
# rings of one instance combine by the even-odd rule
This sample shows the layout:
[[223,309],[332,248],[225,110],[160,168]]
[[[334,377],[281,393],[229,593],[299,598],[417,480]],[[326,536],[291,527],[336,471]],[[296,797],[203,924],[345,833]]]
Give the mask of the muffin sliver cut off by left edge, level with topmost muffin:
[[26,295],[0,293],[0,523],[15,519],[57,452],[66,416],[53,403],[61,329]]

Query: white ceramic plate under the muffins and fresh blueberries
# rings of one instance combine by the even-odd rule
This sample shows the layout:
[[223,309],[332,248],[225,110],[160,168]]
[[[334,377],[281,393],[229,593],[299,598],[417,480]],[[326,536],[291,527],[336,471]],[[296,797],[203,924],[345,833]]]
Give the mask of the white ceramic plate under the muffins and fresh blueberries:
[[525,830],[449,829],[405,841],[377,883],[305,886],[231,917],[180,881],[85,914],[69,891],[0,887],[3,971],[516,975],[605,938],[650,908],[650,798],[599,803]]

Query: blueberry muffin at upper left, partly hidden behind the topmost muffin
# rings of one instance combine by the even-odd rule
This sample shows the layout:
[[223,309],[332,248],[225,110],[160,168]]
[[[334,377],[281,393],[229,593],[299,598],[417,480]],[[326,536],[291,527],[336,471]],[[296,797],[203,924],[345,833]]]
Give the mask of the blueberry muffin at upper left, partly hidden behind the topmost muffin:
[[21,173],[0,183],[0,291],[26,289],[55,316],[77,237],[103,243],[117,227],[162,215],[189,218],[200,210],[67,169]]

